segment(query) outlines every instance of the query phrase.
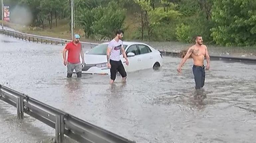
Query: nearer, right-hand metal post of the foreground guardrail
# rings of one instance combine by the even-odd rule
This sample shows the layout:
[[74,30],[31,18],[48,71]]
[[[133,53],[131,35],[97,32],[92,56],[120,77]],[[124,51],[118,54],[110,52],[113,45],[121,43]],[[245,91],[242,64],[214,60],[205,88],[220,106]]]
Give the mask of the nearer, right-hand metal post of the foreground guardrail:
[[56,143],[64,143],[64,115],[56,116],[55,133]]

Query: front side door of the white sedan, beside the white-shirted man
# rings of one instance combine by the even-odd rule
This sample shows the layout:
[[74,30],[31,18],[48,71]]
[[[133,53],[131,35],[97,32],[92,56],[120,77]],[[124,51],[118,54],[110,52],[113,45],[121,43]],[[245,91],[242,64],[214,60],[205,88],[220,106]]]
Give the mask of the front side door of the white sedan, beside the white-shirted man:
[[[134,45],[130,45],[129,47],[126,48],[126,55],[132,52],[135,55],[134,56],[127,56],[128,61],[129,61],[129,66],[127,66],[125,63],[123,63],[124,68],[127,72],[132,72],[132,71],[136,71],[139,69],[139,63],[141,62],[141,59],[139,58],[139,49],[138,47],[134,44]],[[122,56],[122,55],[121,55]],[[125,62],[125,59],[121,58],[122,62]]]

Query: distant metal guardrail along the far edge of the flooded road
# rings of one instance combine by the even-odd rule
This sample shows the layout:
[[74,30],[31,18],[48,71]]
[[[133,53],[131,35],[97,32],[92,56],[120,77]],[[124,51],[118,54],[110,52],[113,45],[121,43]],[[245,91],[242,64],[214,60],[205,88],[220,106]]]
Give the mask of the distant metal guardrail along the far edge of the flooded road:
[[[45,37],[45,36],[38,36],[38,35],[32,35],[32,34],[26,34],[21,33],[17,31],[10,31],[5,29],[0,29],[0,33],[12,36],[15,38],[19,38],[26,41],[33,41],[33,42],[41,42],[41,43],[55,43],[55,44],[62,44],[64,45],[67,42],[70,42],[71,40],[66,39],[60,39],[60,38],[51,38],[51,37]],[[80,42],[82,47],[90,47],[93,48],[98,45],[98,43],[89,43],[89,42]],[[179,52],[169,52],[165,50],[158,50],[163,55],[169,55],[169,56],[177,56],[180,57]],[[214,60],[226,60],[226,61],[235,61],[235,62],[247,62],[247,63],[256,63],[256,58],[249,58],[249,57],[233,57],[233,56],[222,56],[222,55],[210,55],[211,59]]]

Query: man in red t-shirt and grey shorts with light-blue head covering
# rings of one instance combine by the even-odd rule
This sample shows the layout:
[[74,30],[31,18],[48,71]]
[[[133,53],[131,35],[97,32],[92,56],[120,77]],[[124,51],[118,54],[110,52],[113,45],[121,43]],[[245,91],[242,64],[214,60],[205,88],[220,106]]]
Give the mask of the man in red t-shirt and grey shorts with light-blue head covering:
[[[80,63],[80,55],[82,58],[82,63],[84,63],[84,55],[81,47],[81,43],[79,42],[80,36],[75,34],[74,40],[66,44],[63,50],[63,59],[64,65],[67,66],[67,77],[72,77],[73,70],[75,70],[77,77],[82,76],[82,67]],[[68,51],[67,60],[66,60],[66,52]]]

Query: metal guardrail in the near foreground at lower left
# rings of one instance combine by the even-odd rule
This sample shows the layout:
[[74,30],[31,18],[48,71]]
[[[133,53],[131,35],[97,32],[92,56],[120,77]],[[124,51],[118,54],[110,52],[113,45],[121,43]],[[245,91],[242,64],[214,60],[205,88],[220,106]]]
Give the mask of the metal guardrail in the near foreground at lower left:
[[55,128],[57,143],[64,143],[64,134],[82,143],[135,143],[3,85],[0,99],[17,108],[18,119],[26,113]]

